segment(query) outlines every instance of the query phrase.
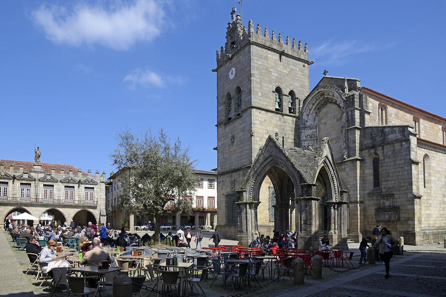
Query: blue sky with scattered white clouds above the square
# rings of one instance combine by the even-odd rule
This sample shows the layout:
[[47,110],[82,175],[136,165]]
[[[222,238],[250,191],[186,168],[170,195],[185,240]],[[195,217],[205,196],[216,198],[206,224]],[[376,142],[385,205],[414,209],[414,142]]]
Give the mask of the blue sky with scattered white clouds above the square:
[[[446,117],[446,2],[243,1],[249,19],[309,43],[329,75]],[[237,0],[2,1],[0,158],[113,166],[116,133],[165,128],[217,166],[215,51]]]

